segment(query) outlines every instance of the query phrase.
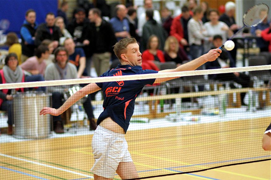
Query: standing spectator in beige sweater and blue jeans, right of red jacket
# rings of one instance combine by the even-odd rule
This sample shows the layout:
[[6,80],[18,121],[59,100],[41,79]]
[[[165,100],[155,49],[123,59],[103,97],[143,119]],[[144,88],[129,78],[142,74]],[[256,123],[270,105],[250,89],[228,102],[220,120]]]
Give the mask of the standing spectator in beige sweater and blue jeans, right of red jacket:
[[203,27],[201,21],[203,17],[203,11],[201,7],[196,7],[193,18],[188,22],[188,38],[190,45],[190,56],[192,59],[196,59],[203,55],[203,40],[207,35],[207,31]]

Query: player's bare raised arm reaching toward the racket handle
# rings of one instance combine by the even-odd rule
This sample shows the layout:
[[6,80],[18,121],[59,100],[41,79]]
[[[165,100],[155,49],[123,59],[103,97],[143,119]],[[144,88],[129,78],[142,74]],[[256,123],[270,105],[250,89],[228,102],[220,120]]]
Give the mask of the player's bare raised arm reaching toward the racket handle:
[[[164,72],[180,72],[180,71],[194,71],[201,65],[205,64],[208,61],[214,61],[217,59],[218,56],[220,56],[221,49],[212,49],[207,54],[204,54],[197,59],[194,59],[186,64],[182,64],[181,66],[175,68],[175,69],[165,69],[162,71],[158,71],[158,73],[164,73]],[[175,79],[178,77],[168,77],[168,78],[157,78],[154,83],[160,83],[164,81],[168,81],[171,79]]]

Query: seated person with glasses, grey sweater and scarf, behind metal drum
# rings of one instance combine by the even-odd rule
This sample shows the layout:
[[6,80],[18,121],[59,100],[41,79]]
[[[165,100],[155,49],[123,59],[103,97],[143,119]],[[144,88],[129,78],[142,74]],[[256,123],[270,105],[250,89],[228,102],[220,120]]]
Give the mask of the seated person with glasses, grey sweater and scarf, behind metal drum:
[[[45,80],[63,80],[63,79],[76,79],[77,70],[76,66],[68,62],[68,51],[64,47],[58,47],[55,50],[55,62],[49,64],[45,70]],[[59,108],[64,103],[63,93],[71,88],[73,85],[67,86],[50,86],[48,92],[52,93],[52,107]],[[88,95],[85,102],[83,102],[85,112],[90,121],[90,130],[95,130],[97,124],[94,121],[93,109],[91,106],[90,95]],[[61,116],[53,116],[53,127],[57,134],[64,133],[63,121]]]

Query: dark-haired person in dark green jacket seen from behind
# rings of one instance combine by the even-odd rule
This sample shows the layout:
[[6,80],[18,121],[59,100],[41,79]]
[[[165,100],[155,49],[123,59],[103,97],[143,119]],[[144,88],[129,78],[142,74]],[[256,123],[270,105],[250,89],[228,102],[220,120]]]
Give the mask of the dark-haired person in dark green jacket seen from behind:
[[153,10],[146,10],[146,24],[143,26],[143,34],[142,34],[142,47],[143,50],[146,50],[146,46],[148,43],[148,39],[151,35],[156,35],[159,39],[160,44],[158,44],[158,49],[162,50],[164,48],[165,40],[167,38],[167,32],[164,30],[161,24],[158,24],[153,19]]

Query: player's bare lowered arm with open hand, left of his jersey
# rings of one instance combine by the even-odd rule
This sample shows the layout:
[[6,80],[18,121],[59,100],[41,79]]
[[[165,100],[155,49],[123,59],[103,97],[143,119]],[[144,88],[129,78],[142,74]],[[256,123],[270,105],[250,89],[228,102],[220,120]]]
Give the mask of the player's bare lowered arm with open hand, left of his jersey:
[[40,115],[50,114],[53,116],[59,116],[64,111],[66,111],[69,107],[71,107],[74,103],[76,103],[79,99],[83,98],[85,95],[94,93],[100,89],[101,88],[97,86],[96,83],[90,83],[89,85],[83,87],[81,90],[72,94],[72,96],[69,97],[67,101],[60,108],[55,109],[55,108],[44,107],[40,111]]

